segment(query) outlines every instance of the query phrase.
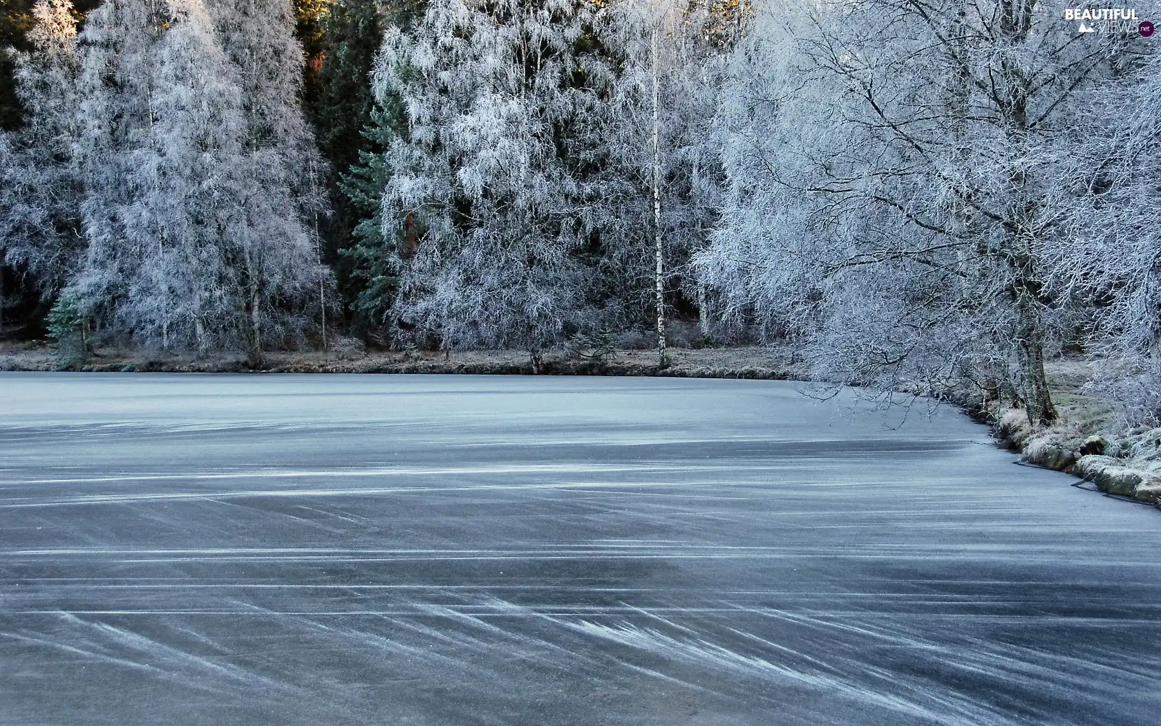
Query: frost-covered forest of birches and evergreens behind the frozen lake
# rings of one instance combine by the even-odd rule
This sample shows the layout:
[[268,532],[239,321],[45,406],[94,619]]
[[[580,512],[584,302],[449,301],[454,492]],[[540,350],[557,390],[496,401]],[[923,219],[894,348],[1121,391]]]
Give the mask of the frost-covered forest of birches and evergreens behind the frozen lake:
[[0,338],[664,365],[676,321],[1033,424],[1087,355],[1155,424],[1161,38],[1066,9],[3,0]]

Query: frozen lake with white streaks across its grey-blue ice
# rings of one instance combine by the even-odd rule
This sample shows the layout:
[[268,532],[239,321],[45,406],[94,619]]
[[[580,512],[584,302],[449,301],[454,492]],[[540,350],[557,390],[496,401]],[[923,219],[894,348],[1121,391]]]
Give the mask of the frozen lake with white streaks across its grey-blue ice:
[[897,424],[766,381],[0,374],[0,724],[1155,725],[1161,512]]

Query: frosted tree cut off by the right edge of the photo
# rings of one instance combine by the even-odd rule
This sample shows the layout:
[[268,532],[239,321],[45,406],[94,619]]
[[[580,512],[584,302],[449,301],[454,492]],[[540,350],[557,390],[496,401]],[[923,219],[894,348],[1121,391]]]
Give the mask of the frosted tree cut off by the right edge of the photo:
[[[1152,16],[1152,15],[1151,15]],[[1161,55],[1149,43],[1086,94],[1065,149],[1068,232],[1044,245],[1061,296],[1088,311],[1097,388],[1161,420]]]

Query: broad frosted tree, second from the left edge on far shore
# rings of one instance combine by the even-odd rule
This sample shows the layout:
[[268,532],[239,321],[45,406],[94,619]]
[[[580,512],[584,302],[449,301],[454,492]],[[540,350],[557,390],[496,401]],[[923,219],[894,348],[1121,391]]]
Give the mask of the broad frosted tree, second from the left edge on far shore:
[[88,247],[65,299],[142,344],[221,344],[243,118],[209,16],[196,0],[113,0],[82,39]]

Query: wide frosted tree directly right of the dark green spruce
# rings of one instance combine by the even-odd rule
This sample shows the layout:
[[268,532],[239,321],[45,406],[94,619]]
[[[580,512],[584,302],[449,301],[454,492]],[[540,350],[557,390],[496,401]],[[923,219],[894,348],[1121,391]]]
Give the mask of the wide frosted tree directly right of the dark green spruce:
[[453,0],[388,30],[375,88],[408,118],[382,200],[402,328],[444,347],[522,346],[535,362],[586,324],[587,118],[608,82],[597,13],[587,0]]

